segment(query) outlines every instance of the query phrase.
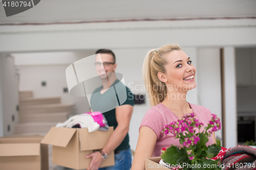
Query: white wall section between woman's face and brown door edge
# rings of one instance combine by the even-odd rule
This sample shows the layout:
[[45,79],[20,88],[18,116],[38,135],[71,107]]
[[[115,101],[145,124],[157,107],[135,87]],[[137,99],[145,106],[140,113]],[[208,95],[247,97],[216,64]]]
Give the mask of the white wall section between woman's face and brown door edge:
[[[197,50],[199,105],[210,109],[222,121],[220,48],[201,47]],[[216,132],[222,142],[222,131]],[[223,143],[222,143],[223,144]]]

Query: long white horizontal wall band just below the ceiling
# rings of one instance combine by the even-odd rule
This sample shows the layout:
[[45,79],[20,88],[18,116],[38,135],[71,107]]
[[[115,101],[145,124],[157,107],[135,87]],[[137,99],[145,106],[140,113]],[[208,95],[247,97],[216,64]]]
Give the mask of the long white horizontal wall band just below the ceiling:
[[256,19],[141,21],[48,26],[1,26],[1,52],[256,44]]

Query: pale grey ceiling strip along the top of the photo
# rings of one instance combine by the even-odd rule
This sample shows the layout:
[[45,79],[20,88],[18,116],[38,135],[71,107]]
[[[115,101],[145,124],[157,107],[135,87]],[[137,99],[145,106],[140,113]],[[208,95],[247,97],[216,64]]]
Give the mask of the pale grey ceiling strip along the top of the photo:
[[174,18],[256,17],[255,0],[41,0],[35,7],[6,17],[0,24]]

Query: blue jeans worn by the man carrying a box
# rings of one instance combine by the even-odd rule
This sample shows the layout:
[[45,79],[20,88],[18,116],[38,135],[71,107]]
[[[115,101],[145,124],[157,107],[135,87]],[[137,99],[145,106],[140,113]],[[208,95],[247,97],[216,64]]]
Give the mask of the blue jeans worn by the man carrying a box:
[[98,170],[130,170],[132,167],[132,152],[131,149],[120,151],[115,154],[115,165],[101,167]]

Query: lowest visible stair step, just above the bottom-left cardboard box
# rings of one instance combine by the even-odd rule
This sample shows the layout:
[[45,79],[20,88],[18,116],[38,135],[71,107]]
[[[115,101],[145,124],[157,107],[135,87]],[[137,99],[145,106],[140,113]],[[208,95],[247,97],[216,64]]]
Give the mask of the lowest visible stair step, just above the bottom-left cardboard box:
[[15,125],[16,134],[24,133],[47,133],[51,127],[56,126],[58,122],[44,122],[44,123],[22,123]]

